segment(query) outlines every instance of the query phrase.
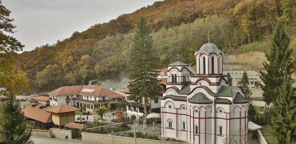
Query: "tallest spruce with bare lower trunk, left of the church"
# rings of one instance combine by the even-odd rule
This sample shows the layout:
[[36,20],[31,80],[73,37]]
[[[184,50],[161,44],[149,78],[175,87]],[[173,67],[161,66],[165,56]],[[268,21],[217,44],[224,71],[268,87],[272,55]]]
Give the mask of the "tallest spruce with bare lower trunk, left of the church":
[[131,56],[130,56],[130,98],[135,101],[142,101],[144,98],[144,119],[147,121],[147,98],[154,99],[159,94],[159,83],[157,73],[160,65],[155,48],[152,47],[152,36],[147,21],[141,17],[136,27]]

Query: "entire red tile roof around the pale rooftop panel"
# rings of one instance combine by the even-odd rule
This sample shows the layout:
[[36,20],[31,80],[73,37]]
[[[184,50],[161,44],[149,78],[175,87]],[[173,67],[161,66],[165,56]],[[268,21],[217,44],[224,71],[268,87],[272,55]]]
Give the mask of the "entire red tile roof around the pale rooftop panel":
[[[94,89],[94,92],[82,92],[83,89]],[[125,97],[124,95],[120,95],[117,92],[105,89],[104,87],[97,86],[70,86],[70,87],[61,87],[52,92],[49,92],[48,95],[89,95],[95,97],[107,96],[109,98],[116,97]]]

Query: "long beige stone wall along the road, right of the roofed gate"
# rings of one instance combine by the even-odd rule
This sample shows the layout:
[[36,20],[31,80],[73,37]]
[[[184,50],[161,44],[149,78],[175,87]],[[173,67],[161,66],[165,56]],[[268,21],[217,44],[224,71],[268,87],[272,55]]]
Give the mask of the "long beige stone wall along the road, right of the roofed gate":
[[[112,140],[113,139],[113,140]],[[120,137],[112,135],[94,134],[88,132],[82,132],[82,141],[100,144],[130,144],[135,143],[135,139],[132,137]],[[147,140],[137,138],[137,144],[177,144],[177,142],[161,141],[161,140]]]

